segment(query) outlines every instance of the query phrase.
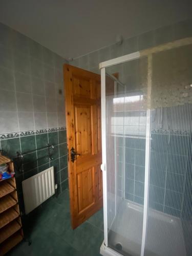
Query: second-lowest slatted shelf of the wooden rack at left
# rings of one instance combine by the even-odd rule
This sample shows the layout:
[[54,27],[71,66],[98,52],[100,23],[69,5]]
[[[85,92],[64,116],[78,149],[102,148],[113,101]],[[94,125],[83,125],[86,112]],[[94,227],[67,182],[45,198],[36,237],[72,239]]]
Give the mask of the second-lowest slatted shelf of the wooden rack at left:
[[8,225],[3,227],[0,230],[0,243],[3,243],[6,239],[8,239],[12,234],[18,231],[21,228],[19,223],[15,220],[10,222]]

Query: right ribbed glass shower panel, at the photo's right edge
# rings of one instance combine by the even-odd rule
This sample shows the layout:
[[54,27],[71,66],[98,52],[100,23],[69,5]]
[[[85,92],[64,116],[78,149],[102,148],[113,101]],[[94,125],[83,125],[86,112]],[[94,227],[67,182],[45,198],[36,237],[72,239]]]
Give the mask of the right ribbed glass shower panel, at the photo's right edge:
[[192,47],[153,54],[145,256],[192,255]]

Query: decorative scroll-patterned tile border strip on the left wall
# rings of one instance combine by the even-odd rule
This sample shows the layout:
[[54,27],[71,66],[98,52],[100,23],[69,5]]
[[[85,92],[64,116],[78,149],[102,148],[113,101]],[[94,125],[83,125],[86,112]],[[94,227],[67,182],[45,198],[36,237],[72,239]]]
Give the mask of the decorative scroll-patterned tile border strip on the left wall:
[[39,130],[31,130],[26,132],[14,132],[14,133],[7,133],[7,134],[0,134],[0,140],[6,140],[6,139],[13,139],[13,138],[19,138],[19,137],[25,137],[35,134],[43,134],[43,133],[50,133],[50,132],[57,132],[57,131],[65,131],[66,127],[53,127],[49,129],[39,129]]

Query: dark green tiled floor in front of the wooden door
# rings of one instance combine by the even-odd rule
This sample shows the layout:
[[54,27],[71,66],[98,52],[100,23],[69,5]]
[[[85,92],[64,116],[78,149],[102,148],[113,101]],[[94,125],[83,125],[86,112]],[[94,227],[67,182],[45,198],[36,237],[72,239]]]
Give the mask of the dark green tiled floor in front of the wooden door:
[[70,224],[69,191],[37,209],[27,221],[32,244],[22,242],[8,255],[98,256],[103,241],[103,210],[73,230]]

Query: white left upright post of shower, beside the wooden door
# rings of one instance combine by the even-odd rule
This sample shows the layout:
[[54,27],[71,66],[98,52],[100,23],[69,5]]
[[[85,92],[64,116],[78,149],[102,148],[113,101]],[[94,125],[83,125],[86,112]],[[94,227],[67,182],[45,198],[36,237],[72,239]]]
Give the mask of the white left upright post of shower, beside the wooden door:
[[103,178],[103,219],[104,244],[108,246],[108,204],[106,179],[106,102],[105,102],[105,68],[101,69],[101,137],[102,137],[102,178]]

